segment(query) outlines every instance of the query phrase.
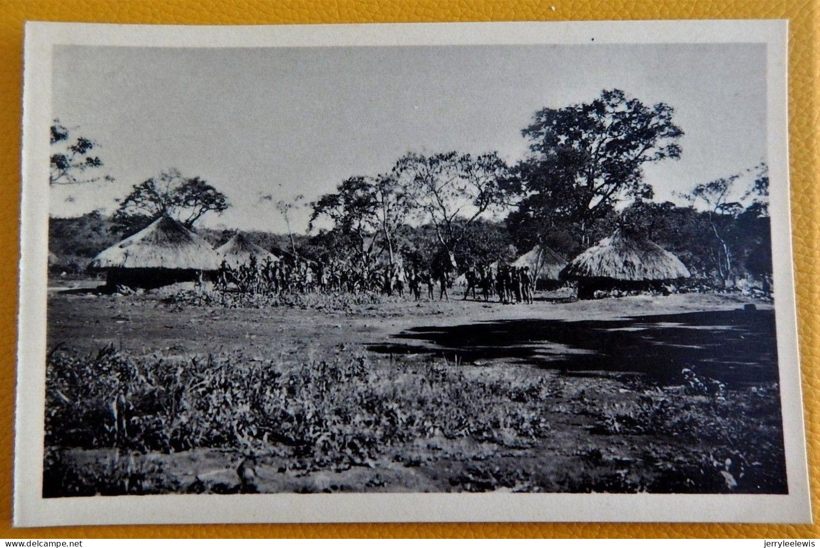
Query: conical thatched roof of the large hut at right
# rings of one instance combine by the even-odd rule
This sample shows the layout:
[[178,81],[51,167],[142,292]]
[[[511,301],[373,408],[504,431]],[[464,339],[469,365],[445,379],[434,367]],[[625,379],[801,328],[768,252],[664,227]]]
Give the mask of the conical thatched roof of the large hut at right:
[[690,273],[681,259],[666,249],[619,228],[572,259],[562,276],[571,280],[652,281],[688,278]]

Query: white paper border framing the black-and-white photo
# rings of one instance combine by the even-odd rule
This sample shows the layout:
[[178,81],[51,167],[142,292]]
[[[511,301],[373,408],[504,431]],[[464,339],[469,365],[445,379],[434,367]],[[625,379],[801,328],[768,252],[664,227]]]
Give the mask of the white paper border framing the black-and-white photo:
[[[809,523],[809,477],[791,262],[786,36],[787,21],[781,20],[240,27],[28,23],[23,102],[15,525],[482,521]],[[42,498],[48,127],[52,120],[54,45],[259,48],[523,43],[767,44],[773,279],[788,495],[395,493]]]

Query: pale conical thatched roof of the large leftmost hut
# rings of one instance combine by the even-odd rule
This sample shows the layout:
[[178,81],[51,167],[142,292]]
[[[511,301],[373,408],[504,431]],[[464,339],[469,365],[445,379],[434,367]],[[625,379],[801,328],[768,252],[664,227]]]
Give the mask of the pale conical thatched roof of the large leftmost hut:
[[94,257],[89,268],[169,268],[217,270],[219,254],[207,241],[171,217],[160,217],[143,230]]

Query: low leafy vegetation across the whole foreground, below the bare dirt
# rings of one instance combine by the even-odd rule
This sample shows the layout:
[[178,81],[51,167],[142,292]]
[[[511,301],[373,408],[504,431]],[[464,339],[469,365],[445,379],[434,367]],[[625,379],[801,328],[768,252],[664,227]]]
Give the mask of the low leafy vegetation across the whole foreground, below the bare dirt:
[[[784,488],[776,386],[718,401],[638,386],[585,393],[572,379],[526,371],[347,352],[301,361],[56,349],[47,368],[46,495],[242,488],[236,478],[184,482],[164,468],[162,454],[196,450],[275,459],[279,473],[296,476],[373,470],[365,488],[386,485],[376,472],[389,463],[425,468],[447,454],[458,459],[446,476],[457,491]],[[554,426],[556,406],[589,417],[592,428],[585,445],[558,455],[572,463],[563,473],[527,464],[566,435]],[[67,456],[72,450],[107,452],[86,466]]]

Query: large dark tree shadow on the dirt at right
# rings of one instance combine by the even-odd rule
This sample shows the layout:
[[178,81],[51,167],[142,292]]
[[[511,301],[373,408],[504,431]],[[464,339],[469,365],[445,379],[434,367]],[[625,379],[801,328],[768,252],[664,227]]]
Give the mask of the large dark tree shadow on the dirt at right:
[[[504,320],[416,327],[370,345],[383,354],[430,354],[463,363],[509,360],[563,372],[633,372],[680,381],[683,368],[730,388],[776,382],[772,310],[729,310],[619,320]],[[400,340],[400,342],[399,342]]]

